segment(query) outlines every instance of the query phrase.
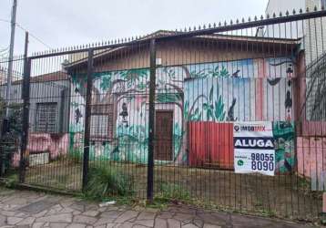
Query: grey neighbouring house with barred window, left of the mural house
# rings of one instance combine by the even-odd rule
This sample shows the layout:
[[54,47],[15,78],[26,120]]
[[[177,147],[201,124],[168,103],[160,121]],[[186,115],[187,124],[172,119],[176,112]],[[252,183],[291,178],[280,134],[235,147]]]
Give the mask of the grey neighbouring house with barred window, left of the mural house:
[[[21,104],[22,80],[15,80],[11,88],[11,104]],[[31,78],[29,126],[31,133],[62,133],[68,130],[69,80],[59,71]],[[6,84],[0,86],[5,99]]]

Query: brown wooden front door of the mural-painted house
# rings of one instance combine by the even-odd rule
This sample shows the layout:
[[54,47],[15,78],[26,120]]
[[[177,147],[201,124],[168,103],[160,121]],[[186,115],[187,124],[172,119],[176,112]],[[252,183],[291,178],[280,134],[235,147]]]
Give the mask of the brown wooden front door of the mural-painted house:
[[154,160],[172,161],[173,111],[157,110]]

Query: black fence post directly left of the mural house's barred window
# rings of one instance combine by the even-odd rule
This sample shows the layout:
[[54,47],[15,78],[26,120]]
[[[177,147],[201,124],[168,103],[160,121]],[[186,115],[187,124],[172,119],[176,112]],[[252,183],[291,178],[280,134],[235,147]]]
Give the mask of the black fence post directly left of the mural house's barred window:
[[91,102],[93,87],[93,56],[94,49],[88,50],[87,63],[87,95],[85,106],[85,133],[84,133],[84,161],[83,161],[83,191],[87,188],[88,179],[88,161],[89,161],[89,140],[90,140],[90,119],[91,119]]

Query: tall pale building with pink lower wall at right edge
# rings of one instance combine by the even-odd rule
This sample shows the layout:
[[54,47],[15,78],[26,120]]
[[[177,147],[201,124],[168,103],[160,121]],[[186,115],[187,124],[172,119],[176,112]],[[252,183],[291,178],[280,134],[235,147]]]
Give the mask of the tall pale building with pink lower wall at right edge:
[[[266,14],[272,16],[273,13],[285,12],[295,9],[303,12],[309,8],[325,9],[325,0],[270,0],[266,8]],[[301,70],[301,97],[304,99],[301,105],[301,124],[297,128],[297,159],[298,171],[300,174],[311,177],[312,190],[323,190],[322,183],[325,171],[323,150],[326,147],[326,77],[325,77],[325,43],[326,34],[323,28],[326,27],[324,17],[310,20],[302,20],[296,23],[281,25],[278,32],[281,37],[293,36],[290,31],[296,31],[296,35],[301,37],[301,49],[305,52],[306,68]],[[270,32],[271,26],[265,28],[265,36]],[[277,29],[277,28],[276,28]],[[305,158],[305,160],[304,160]],[[319,186],[317,186],[319,182]]]

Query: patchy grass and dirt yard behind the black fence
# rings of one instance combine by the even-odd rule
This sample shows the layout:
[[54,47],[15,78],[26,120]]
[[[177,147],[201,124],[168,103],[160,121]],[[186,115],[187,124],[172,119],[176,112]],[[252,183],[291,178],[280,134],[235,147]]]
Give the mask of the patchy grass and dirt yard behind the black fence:
[[[89,167],[91,173],[97,174],[90,175],[93,176],[94,187],[91,192],[94,193],[88,193],[85,197],[97,198],[100,202],[116,200],[123,204],[139,203],[154,208],[165,207],[170,202],[186,202],[221,211],[237,210],[242,213],[307,218],[312,221],[318,219],[321,212],[321,193],[311,192],[308,188],[309,180],[295,175],[269,177],[156,165],[155,200],[148,205],[144,200],[148,178],[146,166],[116,161],[91,161]],[[107,168],[102,170],[101,167]],[[104,173],[106,178],[98,177],[103,176],[100,173]],[[121,181],[117,182],[117,179]],[[80,192],[81,182],[82,164],[67,160],[31,167],[26,171],[26,183],[29,184]]]

